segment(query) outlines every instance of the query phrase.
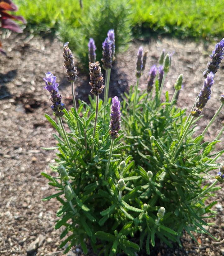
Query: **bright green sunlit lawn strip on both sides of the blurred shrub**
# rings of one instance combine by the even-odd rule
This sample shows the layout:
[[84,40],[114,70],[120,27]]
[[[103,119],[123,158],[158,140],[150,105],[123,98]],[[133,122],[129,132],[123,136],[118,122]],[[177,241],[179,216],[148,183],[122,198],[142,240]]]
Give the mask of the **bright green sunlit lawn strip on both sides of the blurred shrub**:
[[[80,9],[79,0],[15,0],[18,13],[28,21],[28,27],[38,30],[55,29],[62,22],[79,27],[80,17],[88,16],[90,2],[84,0]],[[131,0],[134,31],[171,33],[179,37],[214,37],[224,35],[224,0]]]

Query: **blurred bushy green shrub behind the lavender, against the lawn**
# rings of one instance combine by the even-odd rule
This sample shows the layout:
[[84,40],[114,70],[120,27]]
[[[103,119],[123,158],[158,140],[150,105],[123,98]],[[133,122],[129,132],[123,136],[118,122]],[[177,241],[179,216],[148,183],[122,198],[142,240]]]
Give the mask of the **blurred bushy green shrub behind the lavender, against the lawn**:
[[88,68],[88,42],[96,43],[96,58],[101,61],[102,43],[109,29],[114,29],[116,51],[126,48],[131,40],[130,5],[127,0],[99,0],[90,4],[88,12],[80,17],[80,25],[71,24],[65,17],[60,24],[62,41],[69,41],[81,65]]

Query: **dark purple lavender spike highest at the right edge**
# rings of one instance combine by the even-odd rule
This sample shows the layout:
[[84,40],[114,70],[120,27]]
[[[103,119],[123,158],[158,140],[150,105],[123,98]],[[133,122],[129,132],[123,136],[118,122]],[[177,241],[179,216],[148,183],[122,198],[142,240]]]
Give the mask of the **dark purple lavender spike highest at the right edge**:
[[215,74],[219,69],[219,64],[223,59],[223,50],[224,50],[224,38],[217,43],[215,49],[213,50],[212,54],[209,56],[211,59],[210,62],[207,64],[207,68],[203,72],[203,77],[206,78],[207,75],[212,71]]

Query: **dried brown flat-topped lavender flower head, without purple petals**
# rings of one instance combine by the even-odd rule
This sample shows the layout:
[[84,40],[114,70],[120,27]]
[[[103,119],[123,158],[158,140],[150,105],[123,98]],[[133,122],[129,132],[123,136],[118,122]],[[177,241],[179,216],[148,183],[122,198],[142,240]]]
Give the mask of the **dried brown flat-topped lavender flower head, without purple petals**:
[[99,61],[95,63],[89,63],[89,75],[90,75],[89,85],[92,87],[90,92],[98,96],[99,94],[102,93],[104,88],[103,75],[101,73]]

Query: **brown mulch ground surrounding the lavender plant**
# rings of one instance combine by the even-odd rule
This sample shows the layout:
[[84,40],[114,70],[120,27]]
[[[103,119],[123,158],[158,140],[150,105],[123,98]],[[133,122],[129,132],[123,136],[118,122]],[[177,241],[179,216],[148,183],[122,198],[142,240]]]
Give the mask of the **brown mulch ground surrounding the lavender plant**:
[[[26,255],[27,248],[37,238],[43,238],[36,254],[62,255],[58,245],[60,230],[54,230],[57,220],[56,200],[42,202],[41,198],[53,193],[41,171],[50,173],[48,163],[53,163],[54,152],[41,147],[54,146],[53,128],[45,120],[44,113],[52,114],[49,97],[43,90],[44,72],[53,72],[59,81],[60,92],[67,108],[71,107],[71,88],[66,81],[63,68],[62,43],[57,39],[33,37],[32,35],[11,35],[3,41],[7,56],[0,56],[0,255]],[[120,95],[135,83],[135,60],[138,46],[149,51],[146,70],[140,80],[145,89],[147,73],[151,65],[157,64],[160,51],[164,48],[173,53],[172,67],[167,75],[165,89],[173,94],[173,84],[180,73],[184,75],[178,105],[190,110],[203,84],[203,70],[214,45],[205,46],[193,41],[158,38],[149,42],[133,42],[128,51],[117,56],[112,70],[110,96]],[[219,106],[219,95],[224,89],[224,65],[215,76],[212,98],[204,109],[198,129],[203,130]],[[87,100],[89,76],[78,73],[75,93]],[[224,119],[222,111],[209,129],[206,139],[212,140],[221,128]],[[223,148],[221,139],[217,150]],[[208,182],[213,182],[211,178]],[[197,235],[201,245],[192,241],[188,234],[183,237],[183,249],[168,249],[158,245],[151,255],[222,255],[224,252],[224,192],[217,192],[218,211],[209,228],[220,243],[205,234]],[[42,235],[42,237],[40,237]],[[70,255],[80,255],[79,248]],[[223,253],[224,254],[224,253]],[[32,254],[31,254],[32,255]],[[138,255],[145,255],[144,251]]]

